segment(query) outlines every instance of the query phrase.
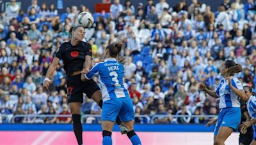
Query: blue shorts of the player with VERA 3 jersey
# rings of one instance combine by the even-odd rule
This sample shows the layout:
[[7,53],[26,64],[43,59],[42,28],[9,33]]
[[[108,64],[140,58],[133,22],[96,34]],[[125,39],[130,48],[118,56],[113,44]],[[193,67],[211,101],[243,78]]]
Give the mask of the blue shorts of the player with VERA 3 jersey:
[[116,116],[121,121],[134,120],[133,104],[130,97],[115,98],[103,102],[101,120],[115,122]]

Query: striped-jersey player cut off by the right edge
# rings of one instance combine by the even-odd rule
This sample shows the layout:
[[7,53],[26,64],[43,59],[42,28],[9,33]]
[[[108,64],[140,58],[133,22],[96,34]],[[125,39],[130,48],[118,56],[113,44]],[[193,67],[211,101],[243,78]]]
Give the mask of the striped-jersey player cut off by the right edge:
[[[256,97],[253,96],[252,87],[250,87],[250,86],[244,86],[244,92],[246,93],[246,99],[245,99],[246,107],[247,107],[248,113],[252,119],[247,120],[243,124],[241,124],[240,131],[243,134],[247,134],[248,132],[250,132],[250,128],[252,128],[252,126],[255,125],[255,123],[256,123]],[[251,141],[252,141],[252,139],[251,139]],[[253,141],[251,142],[251,145],[252,144],[256,144],[256,138],[253,139]]]

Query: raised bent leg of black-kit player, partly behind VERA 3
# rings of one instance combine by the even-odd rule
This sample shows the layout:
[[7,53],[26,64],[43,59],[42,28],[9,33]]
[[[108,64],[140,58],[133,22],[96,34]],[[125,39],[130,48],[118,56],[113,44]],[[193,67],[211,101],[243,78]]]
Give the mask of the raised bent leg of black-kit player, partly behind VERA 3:
[[[97,104],[102,108],[102,93],[100,92],[99,86],[93,80],[86,81],[85,83],[87,83],[87,87],[84,90],[84,93],[86,93],[89,98],[92,98],[95,102],[97,102]],[[116,117],[116,123],[120,128],[120,132],[125,134],[127,132],[127,128],[122,125],[122,122],[118,116]]]

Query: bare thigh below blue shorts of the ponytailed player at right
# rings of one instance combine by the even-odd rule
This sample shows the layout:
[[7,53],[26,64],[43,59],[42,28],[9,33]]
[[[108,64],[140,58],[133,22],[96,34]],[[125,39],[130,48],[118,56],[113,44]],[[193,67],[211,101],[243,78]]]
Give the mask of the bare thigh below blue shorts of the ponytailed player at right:
[[227,138],[233,131],[234,129],[230,127],[220,127],[220,130],[218,135],[216,136],[214,145],[224,145],[224,142],[227,140]]

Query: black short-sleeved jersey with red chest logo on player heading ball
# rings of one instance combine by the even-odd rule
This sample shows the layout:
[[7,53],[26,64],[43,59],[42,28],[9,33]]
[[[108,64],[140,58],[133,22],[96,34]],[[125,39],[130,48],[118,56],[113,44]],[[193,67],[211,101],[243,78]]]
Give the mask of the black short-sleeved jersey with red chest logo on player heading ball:
[[86,55],[92,57],[92,46],[89,43],[81,41],[78,45],[72,46],[68,41],[61,44],[60,50],[56,52],[55,57],[63,60],[64,70],[67,76],[70,76],[74,71],[83,70]]

